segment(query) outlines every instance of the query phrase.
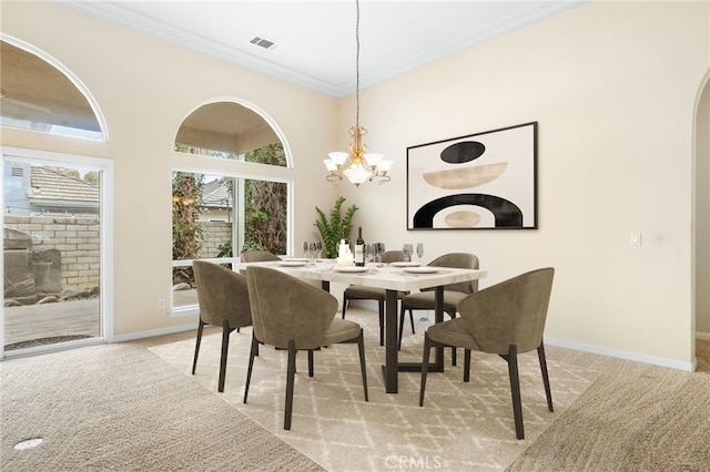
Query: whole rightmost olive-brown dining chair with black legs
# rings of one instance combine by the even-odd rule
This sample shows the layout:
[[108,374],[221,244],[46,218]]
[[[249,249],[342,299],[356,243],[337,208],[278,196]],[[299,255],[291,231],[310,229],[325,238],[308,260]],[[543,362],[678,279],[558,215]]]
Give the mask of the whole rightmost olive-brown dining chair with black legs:
[[518,439],[525,439],[518,378],[519,353],[537,350],[547,408],[554,411],[542,346],[554,276],[555,269],[547,267],[485,288],[459,302],[460,318],[430,326],[424,335],[419,407],[424,406],[430,348],[458,346],[465,349],[464,381],[469,380],[471,350],[496,353],[508,362],[513,414]]

